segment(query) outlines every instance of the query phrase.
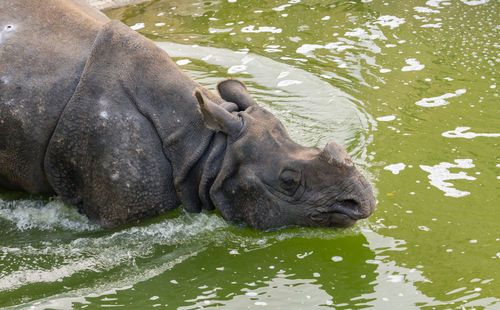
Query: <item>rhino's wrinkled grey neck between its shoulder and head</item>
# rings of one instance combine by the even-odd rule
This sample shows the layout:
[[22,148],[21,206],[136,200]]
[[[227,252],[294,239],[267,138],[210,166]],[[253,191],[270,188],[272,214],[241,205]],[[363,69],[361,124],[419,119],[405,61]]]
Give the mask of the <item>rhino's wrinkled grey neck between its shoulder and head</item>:
[[108,23],[101,37],[108,44],[117,86],[153,125],[173,170],[174,186],[184,208],[212,209],[210,188],[218,174],[226,136],[208,129],[197,109],[195,90],[217,103],[223,100],[187,76],[159,47],[125,25]]

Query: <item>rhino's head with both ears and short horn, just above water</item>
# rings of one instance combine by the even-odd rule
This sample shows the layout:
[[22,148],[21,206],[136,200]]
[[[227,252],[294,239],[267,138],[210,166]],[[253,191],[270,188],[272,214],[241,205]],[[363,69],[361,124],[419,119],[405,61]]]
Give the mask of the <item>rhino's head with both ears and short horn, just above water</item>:
[[236,111],[200,91],[195,95],[206,125],[228,136],[222,168],[210,190],[226,220],[261,229],[348,227],[373,212],[371,186],[340,145],[330,142],[323,150],[301,146],[257,105],[243,83],[225,80],[217,89],[237,105]]

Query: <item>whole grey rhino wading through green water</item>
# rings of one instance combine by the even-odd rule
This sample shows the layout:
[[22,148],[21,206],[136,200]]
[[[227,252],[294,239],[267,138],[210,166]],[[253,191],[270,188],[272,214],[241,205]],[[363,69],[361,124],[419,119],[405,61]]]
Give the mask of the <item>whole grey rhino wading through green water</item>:
[[246,86],[218,95],[83,1],[0,1],[0,187],[105,228],[182,205],[232,222],[348,227],[375,208],[339,144],[292,141]]

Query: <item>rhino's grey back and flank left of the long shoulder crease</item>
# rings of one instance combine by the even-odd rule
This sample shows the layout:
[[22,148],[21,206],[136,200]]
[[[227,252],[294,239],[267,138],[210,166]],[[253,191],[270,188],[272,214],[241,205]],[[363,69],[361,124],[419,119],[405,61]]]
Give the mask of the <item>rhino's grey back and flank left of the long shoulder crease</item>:
[[84,2],[0,1],[0,187],[52,192],[47,144],[108,21]]

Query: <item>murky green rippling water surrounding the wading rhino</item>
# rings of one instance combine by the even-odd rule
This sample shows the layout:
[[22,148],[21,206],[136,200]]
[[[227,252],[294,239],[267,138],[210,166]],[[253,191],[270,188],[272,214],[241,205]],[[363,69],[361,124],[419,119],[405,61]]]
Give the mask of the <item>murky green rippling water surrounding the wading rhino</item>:
[[348,230],[176,211],[102,231],[57,199],[0,193],[0,307],[500,309],[498,1],[105,13],[210,89],[243,80],[302,144],[342,143],[377,210]]

